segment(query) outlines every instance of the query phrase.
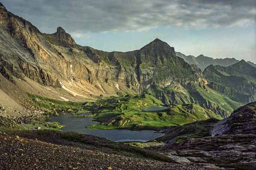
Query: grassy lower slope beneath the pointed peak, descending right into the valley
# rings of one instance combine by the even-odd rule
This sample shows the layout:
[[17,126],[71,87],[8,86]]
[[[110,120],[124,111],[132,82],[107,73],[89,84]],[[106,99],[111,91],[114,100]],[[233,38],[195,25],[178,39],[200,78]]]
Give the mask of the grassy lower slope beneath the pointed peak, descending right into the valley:
[[229,116],[234,109],[241,106],[240,102],[236,102],[228,96],[198,83],[189,83],[185,87],[176,83],[165,87],[151,85],[144,93],[151,94],[163,103],[170,105],[195,103],[221,117]]

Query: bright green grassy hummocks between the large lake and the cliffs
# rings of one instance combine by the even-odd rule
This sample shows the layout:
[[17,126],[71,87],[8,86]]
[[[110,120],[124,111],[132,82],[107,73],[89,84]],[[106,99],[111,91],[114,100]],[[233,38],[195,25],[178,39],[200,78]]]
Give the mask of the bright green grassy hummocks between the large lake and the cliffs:
[[87,103],[84,107],[94,114],[97,122],[101,123],[87,126],[90,129],[160,130],[211,117],[221,119],[212,111],[195,104],[169,105],[157,111],[145,109],[163,107],[162,102],[148,94],[111,97]]

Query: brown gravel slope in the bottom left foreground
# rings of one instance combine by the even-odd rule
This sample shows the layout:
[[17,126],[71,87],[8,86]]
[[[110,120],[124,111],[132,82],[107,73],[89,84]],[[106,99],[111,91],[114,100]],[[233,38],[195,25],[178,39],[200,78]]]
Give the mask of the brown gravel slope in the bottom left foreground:
[[0,134],[0,170],[213,170]]

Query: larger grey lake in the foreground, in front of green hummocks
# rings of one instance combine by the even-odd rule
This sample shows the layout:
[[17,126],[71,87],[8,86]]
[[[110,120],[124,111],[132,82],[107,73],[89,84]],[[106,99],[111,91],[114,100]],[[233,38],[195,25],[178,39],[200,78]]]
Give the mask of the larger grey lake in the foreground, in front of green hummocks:
[[[79,115],[89,115],[90,113],[81,113]],[[61,130],[63,131],[73,131],[84,133],[88,135],[94,135],[106,138],[115,142],[147,142],[164,135],[164,133],[157,133],[154,130],[125,130],[125,129],[111,129],[111,130],[88,130],[86,126],[99,124],[99,122],[93,121],[92,117],[70,117],[69,113],[65,115],[60,113],[59,116],[51,116],[49,121],[59,122],[65,127]]]

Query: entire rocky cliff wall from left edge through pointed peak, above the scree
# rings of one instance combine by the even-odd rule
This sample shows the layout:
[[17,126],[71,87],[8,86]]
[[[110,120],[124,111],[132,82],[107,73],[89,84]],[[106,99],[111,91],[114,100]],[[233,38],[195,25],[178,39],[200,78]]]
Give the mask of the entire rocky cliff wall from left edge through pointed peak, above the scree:
[[202,79],[198,68],[176,57],[174,48],[158,39],[140,50],[109,53],[77,45],[61,27],[54,34],[42,34],[3,6],[0,20],[1,72],[9,78],[26,76],[58,87],[59,81],[83,80],[107,85],[114,94],[141,93],[152,84],[186,84]]

